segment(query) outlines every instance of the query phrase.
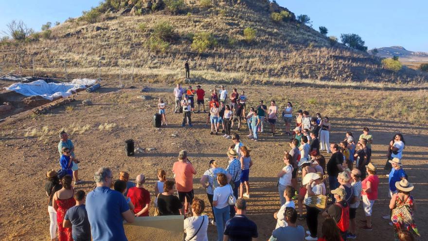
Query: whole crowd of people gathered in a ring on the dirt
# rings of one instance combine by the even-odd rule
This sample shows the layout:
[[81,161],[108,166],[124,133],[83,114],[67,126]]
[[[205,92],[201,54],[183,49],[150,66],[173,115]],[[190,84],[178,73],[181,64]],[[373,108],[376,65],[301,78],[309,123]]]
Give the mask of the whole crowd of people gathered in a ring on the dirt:
[[[212,134],[218,133],[221,123],[224,137],[231,139],[231,146],[225,150],[228,164],[223,168],[219,161],[209,160],[209,168],[200,177],[211,206],[212,219],[204,215],[207,204],[195,197],[193,180],[197,172],[186,150],[178,153],[178,161],[171,167],[173,178],[167,178],[167,171],[158,170],[158,181],[152,190],[146,187],[143,174],[139,174],[135,182],[130,182],[129,174],[122,171],[119,179],[113,181],[111,170],[102,167],[94,174],[96,188],[86,195],[82,190],[75,191],[72,185],[73,180],[74,185],[81,182],[77,175],[79,161],[75,158],[71,140],[62,131],[58,145],[61,169],[58,172],[48,171],[45,185],[49,197],[51,239],[126,240],[123,221],[134,222],[135,217],[149,216],[151,208],[155,209],[155,216],[183,215],[186,241],[207,241],[209,224],[216,226],[218,241],[257,239],[257,225],[246,217],[247,201],[251,200],[251,150],[241,142],[239,134],[231,134],[231,127],[234,121],[238,121],[237,129],[240,130],[241,121],[247,121],[249,137],[257,141],[257,132],[264,131],[267,117],[274,135],[279,110],[275,101],[271,101],[269,108],[260,101],[260,105],[251,107],[246,115],[248,99],[245,93],[239,95],[233,89],[228,105],[228,93],[224,86],[221,89],[219,96],[215,89],[211,94],[208,118]],[[200,112],[200,105],[206,112],[205,92],[200,86],[196,91],[191,86],[184,91],[180,85],[174,90],[175,112],[184,113],[182,125],[189,123],[191,126],[191,112],[196,112],[195,93],[197,112]],[[164,105],[159,109],[165,113]],[[291,128],[292,113],[292,103],[288,102],[282,117],[285,135],[289,135],[291,140],[284,153],[284,167],[276,175],[281,206],[273,214],[277,222],[272,227],[270,241],[356,239],[358,230],[373,230],[372,213],[379,210],[389,212],[383,218],[390,221],[395,240],[410,241],[413,235],[419,235],[413,220],[416,205],[410,194],[414,187],[408,181],[402,163],[403,135],[395,134],[389,143],[388,161],[384,168],[390,171],[388,193],[391,202],[389,209],[382,210],[375,205],[380,190],[378,168],[371,162],[373,136],[370,130],[365,127],[358,138],[352,132],[346,132],[342,141],[332,143],[328,117],[322,118],[320,113],[310,117],[308,111],[299,110],[294,118],[296,127]],[[164,116],[162,121],[166,125]],[[322,152],[331,154],[328,161]],[[153,204],[151,193],[155,195]],[[357,222],[358,212],[363,213],[365,219]],[[320,219],[321,233],[318,232]],[[308,230],[297,225],[297,220],[305,220]],[[359,228],[357,223],[361,224]]]

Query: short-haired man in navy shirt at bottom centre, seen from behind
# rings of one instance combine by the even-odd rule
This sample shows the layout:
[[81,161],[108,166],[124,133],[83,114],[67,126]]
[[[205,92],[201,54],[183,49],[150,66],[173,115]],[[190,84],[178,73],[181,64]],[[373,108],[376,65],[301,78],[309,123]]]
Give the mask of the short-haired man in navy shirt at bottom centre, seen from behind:
[[244,199],[238,199],[235,203],[236,215],[226,222],[226,228],[223,233],[223,241],[255,241],[257,240],[257,225],[245,216],[247,202]]

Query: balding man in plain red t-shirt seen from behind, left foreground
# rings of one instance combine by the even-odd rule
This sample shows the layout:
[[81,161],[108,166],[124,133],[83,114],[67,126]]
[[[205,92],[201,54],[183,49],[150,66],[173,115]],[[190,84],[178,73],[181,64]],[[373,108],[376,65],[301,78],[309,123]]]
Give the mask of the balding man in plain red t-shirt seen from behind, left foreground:
[[135,178],[137,186],[131,187],[128,190],[127,197],[134,204],[135,217],[148,217],[150,206],[150,192],[147,191],[143,184],[145,183],[144,174],[140,174]]

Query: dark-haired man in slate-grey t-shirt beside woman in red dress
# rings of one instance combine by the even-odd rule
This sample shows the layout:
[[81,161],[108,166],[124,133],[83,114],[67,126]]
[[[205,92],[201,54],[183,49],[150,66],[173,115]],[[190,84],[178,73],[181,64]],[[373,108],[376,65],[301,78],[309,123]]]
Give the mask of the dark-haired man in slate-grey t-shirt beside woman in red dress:
[[74,193],[76,205],[67,210],[62,226],[71,228],[71,236],[74,241],[90,241],[90,224],[85,207],[85,191],[78,190]]

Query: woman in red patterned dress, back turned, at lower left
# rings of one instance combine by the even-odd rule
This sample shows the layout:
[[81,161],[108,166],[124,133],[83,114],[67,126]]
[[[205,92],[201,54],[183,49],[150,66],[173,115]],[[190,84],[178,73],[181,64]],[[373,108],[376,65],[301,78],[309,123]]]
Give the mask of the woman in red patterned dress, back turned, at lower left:
[[55,192],[54,199],[52,201],[54,209],[56,210],[56,220],[58,222],[58,241],[73,241],[71,236],[71,228],[62,227],[64,216],[70,207],[76,204],[73,198],[74,189],[71,186],[72,177],[65,175],[61,179],[62,188]]

